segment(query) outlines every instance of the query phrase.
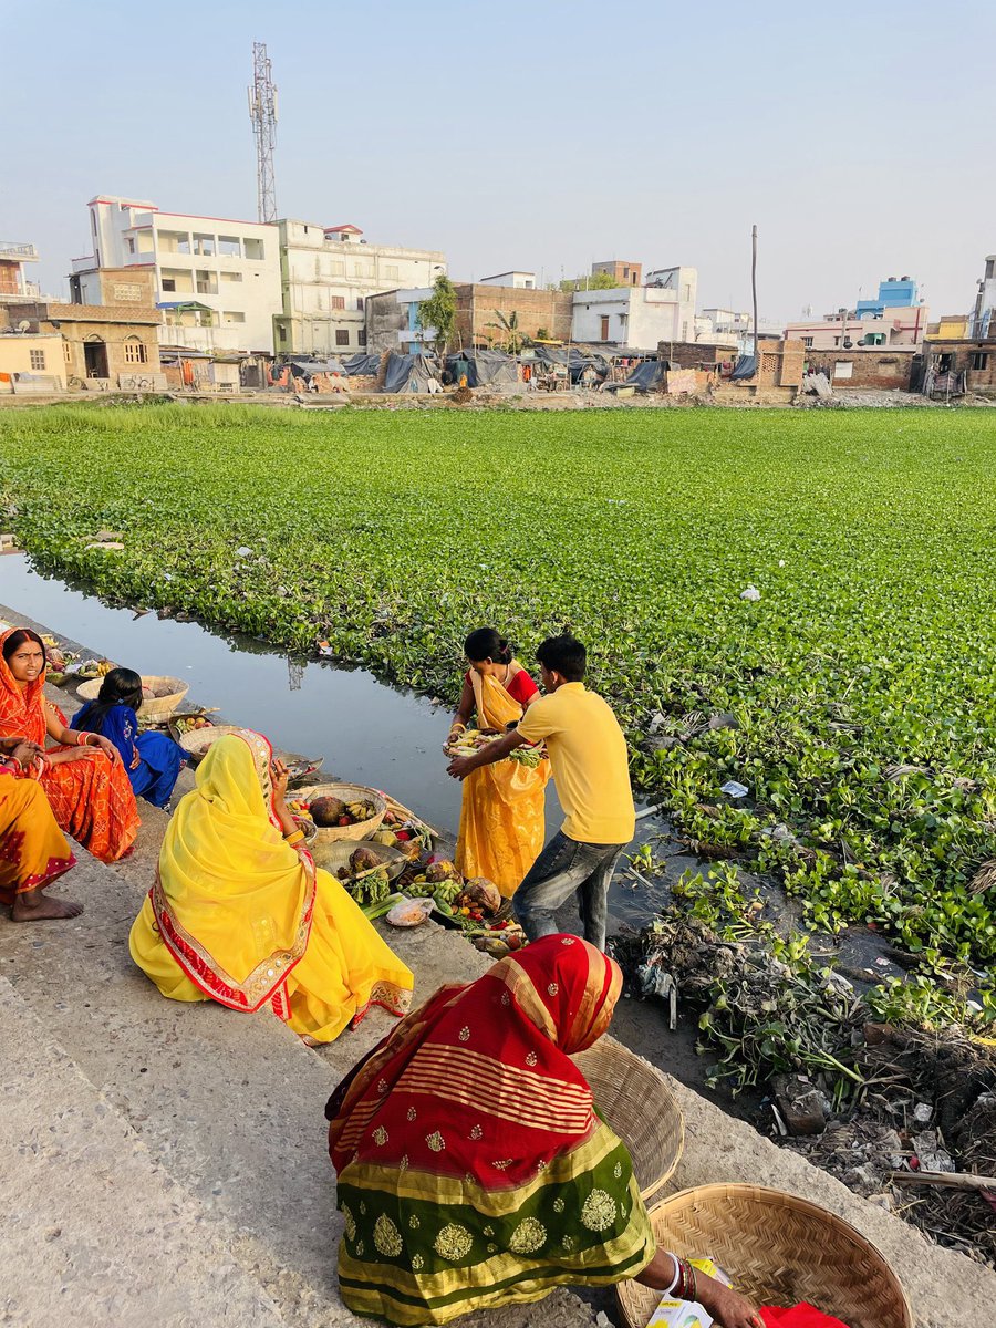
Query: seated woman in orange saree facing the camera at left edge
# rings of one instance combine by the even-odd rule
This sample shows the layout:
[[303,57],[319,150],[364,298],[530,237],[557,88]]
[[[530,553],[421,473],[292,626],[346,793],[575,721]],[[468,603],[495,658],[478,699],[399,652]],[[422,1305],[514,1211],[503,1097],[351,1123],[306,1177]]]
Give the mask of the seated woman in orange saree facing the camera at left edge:
[[45,700],[45,667],[37,632],[12,627],[0,636],[0,737],[58,744],[21,776],[41,784],[60,829],[101,862],[117,862],[141,825],[127,770],[108,738],[66,728]]

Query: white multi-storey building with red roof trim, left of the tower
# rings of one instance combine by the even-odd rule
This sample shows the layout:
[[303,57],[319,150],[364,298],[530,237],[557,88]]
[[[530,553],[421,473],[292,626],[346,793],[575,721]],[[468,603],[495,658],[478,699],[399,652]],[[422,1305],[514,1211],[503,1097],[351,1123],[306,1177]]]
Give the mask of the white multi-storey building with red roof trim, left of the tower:
[[162,212],[98,194],[88,205],[93,254],[73,271],[153,267],[165,323],[161,345],[189,351],[274,349],[280,251],[274,223]]

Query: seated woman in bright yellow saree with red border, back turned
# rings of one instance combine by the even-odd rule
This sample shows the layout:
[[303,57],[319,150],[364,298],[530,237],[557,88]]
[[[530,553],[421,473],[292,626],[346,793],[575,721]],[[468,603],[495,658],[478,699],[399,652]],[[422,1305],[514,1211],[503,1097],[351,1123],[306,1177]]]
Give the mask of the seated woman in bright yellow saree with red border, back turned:
[[331,1042],[371,1005],[405,1013],[414,984],[315,869],[286,788],[287,768],[259,733],[218,738],[173,813],[129,943],[170,1000],[267,1005],[305,1040]]

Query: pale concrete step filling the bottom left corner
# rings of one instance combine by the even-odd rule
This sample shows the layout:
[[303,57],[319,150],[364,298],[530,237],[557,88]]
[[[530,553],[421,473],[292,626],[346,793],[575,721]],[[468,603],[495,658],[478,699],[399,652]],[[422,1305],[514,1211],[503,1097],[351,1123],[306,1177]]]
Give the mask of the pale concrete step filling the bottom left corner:
[[232,1260],[222,1224],[170,1179],[5,979],[0,1044],[8,1054],[0,1082],[4,1324],[286,1324]]

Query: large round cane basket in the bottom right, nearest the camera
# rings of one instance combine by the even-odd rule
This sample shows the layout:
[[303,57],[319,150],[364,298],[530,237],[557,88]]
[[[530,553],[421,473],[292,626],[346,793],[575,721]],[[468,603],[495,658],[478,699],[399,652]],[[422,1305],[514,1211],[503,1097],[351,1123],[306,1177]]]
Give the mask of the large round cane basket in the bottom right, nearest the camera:
[[[794,1194],[760,1185],[704,1185],[651,1208],[657,1243],[710,1258],[757,1305],[809,1301],[849,1328],[912,1328],[899,1279],[849,1222]],[[660,1292],[616,1288],[629,1328],[645,1328]]]

